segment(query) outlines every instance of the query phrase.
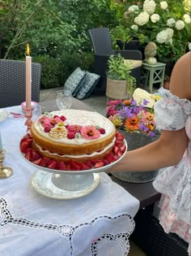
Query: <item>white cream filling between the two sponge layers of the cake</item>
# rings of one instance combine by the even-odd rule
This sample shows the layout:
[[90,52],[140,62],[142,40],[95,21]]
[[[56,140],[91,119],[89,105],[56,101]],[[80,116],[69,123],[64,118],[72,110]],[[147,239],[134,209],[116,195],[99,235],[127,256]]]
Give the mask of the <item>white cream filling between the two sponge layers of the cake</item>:
[[109,145],[107,145],[104,150],[100,150],[99,152],[92,152],[91,154],[79,154],[79,155],[71,155],[71,154],[57,154],[57,153],[53,153],[53,152],[49,152],[49,150],[43,150],[40,145],[36,144],[36,147],[38,148],[39,152],[42,153],[49,153],[49,155],[54,155],[54,156],[59,156],[60,158],[91,158],[93,156],[96,155],[100,155],[103,154],[105,151],[107,151],[108,149],[110,149],[114,143],[116,141],[116,137],[114,137],[114,139],[112,140],[112,143],[110,143]]

